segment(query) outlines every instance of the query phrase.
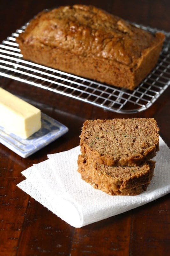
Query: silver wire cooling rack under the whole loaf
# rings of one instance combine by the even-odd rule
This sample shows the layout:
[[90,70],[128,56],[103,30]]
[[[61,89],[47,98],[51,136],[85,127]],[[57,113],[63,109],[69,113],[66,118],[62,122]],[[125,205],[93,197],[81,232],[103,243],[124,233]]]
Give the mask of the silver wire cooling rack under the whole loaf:
[[101,84],[23,60],[15,39],[25,30],[28,23],[0,44],[0,75],[81,100],[105,110],[123,114],[144,111],[152,106],[170,84],[170,32],[136,23],[131,24],[151,33],[163,32],[166,36],[157,66],[133,91]]

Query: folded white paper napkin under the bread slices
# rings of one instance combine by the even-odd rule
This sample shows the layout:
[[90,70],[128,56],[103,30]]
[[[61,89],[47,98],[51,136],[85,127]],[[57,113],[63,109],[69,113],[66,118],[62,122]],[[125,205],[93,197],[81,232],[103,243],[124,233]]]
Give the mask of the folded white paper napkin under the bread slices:
[[170,149],[159,138],[156,167],[147,191],[138,196],[110,196],[92,188],[77,172],[80,147],[48,155],[22,172],[17,186],[71,226],[80,228],[149,203],[170,192]]

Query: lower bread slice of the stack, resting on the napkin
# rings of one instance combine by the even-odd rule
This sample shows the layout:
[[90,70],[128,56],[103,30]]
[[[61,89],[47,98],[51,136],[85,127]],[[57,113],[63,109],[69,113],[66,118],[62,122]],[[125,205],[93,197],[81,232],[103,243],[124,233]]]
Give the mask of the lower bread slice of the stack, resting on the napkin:
[[155,162],[139,166],[106,166],[91,162],[86,155],[78,156],[78,172],[93,188],[109,195],[138,195],[145,191],[153,176]]

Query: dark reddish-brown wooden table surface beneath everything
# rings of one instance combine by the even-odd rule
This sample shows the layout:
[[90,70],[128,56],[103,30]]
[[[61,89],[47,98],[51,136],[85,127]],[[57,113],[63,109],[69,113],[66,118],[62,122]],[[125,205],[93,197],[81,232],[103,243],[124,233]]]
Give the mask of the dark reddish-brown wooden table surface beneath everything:
[[[65,4],[93,4],[124,19],[170,30],[170,2],[150,1],[0,1],[0,41],[45,8]],[[0,86],[27,100],[69,128],[60,139],[24,159],[0,144],[0,256],[37,255],[169,255],[169,197],[83,228],[74,228],[48,211],[16,185],[21,172],[79,144],[86,119],[154,117],[160,135],[170,146],[170,88],[148,110],[117,114],[52,92],[0,77]]]

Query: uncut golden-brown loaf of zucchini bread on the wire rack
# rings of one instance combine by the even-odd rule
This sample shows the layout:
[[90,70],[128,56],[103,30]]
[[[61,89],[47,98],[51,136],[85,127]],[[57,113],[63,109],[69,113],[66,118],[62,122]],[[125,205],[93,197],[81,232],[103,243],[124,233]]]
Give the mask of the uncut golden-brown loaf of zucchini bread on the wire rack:
[[73,5],[39,13],[16,41],[26,60],[133,90],[156,65],[164,38]]

